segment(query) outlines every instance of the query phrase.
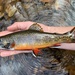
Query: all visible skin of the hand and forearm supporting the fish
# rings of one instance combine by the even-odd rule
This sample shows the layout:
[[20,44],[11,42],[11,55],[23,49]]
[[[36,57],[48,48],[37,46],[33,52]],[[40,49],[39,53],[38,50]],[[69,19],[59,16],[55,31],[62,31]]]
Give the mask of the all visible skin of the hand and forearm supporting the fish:
[[[3,35],[7,35],[7,34],[10,34],[10,33],[13,33],[15,31],[18,31],[18,30],[26,30],[28,29],[32,24],[34,24],[34,22],[30,22],[30,21],[27,21],[27,22],[15,22],[13,25],[9,26],[7,28],[6,31],[2,31],[0,32],[0,36],[3,36]],[[43,30],[45,32],[50,32],[50,33],[65,33],[67,31],[70,31],[73,27],[49,27],[49,26],[45,26],[43,24],[40,24],[40,26],[43,28]],[[58,46],[56,48],[63,48],[63,49],[70,49],[70,50],[75,50],[75,43],[72,43],[72,44],[68,44],[68,43],[62,43],[61,46]],[[15,55],[15,54],[18,54],[18,53],[28,53],[28,52],[31,52],[31,51],[6,51],[6,50],[0,50],[0,56],[1,57],[5,57],[5,56],[10,56],[10,55]]]

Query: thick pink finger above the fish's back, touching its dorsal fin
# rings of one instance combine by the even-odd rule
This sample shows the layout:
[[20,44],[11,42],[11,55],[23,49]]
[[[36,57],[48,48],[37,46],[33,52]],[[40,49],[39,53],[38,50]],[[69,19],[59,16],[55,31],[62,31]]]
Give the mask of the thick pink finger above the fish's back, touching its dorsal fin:
[[34,22],[15,22],[11,26],[7,28],[9,31],[16,31],[16,30],[25,30],[28,29]]

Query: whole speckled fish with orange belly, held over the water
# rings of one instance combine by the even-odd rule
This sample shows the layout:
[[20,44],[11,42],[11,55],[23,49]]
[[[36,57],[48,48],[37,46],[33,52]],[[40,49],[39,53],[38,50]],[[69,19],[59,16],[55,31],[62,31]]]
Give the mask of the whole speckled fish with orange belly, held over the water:
[[34,23],[28,30],[14,32],[0,37],[0,46],[8,50],[29,51],[37,55],[40,49],[75,42],[75,27],[66,33],[48,33]]

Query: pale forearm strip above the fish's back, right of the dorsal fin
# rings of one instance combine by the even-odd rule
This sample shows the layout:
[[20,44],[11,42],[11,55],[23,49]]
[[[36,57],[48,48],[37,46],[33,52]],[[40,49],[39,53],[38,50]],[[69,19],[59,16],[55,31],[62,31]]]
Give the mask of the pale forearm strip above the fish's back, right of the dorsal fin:
[[70,30],[72,30],[75,26],[68,26],[68,27],[54,27],[54,26],[46,26],[44,24],[40,24],[41,27],[45,32],[50,32],[50,33],[66,33]]

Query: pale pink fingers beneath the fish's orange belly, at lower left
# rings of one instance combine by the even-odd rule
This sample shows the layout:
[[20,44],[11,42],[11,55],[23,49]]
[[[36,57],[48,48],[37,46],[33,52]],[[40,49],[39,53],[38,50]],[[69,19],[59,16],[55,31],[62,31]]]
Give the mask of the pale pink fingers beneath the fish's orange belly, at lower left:
[[16,55],[19,53],[31,53],[32,51],[3,51],[0,50],[0,56],[1,57],[7,57],[7,56],[11,56],[11,55]]

